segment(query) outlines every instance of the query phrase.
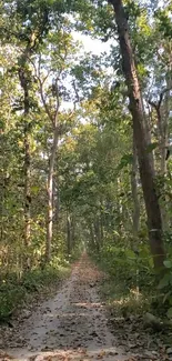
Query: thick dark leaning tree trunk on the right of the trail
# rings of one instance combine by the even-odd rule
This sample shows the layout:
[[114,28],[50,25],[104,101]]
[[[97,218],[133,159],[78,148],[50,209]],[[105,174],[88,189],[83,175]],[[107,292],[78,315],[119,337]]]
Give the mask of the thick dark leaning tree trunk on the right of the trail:
[[151,157],[148,153],[149,142],[146,139],[139,79],[129,37],[128,20],[121,0],[109,0],[109,2],[114,8],[122,54],[123,73],[129,90],[130,111],[133,120],[134,141],[136,144],[140,178],[142,182],[148,215],[150,247],[153,255],[154,267],[155,269],[160,269],[163,268],[163,261],[165,257],[162,240],[161,212],[155,190],[154,172],[152,168]]

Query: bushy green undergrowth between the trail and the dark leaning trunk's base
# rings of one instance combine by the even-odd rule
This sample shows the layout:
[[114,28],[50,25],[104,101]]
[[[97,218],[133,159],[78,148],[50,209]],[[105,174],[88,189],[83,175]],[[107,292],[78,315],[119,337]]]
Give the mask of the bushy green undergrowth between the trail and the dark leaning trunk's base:
[[122,317],[141,315],[152,310],[154,312],[156,287],[145,249],[144,253],[138,255],[129,249],[111,245],[93,258],[107,273],[101,293],[109,308]]

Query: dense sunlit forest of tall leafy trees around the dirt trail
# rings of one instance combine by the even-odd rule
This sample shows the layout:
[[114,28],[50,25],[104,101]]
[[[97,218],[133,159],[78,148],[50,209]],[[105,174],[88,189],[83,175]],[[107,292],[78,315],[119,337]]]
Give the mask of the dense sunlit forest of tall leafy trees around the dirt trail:
[[171,2],[0,11],[0,314],[87,249],[172,317]]

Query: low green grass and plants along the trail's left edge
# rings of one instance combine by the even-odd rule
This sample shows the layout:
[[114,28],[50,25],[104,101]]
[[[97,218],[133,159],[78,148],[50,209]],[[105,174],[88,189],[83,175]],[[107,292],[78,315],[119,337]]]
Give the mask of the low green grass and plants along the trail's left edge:
[[58,267],[48,265],[43,270],[34,269],[27,272],[20,280],[16,274],[6,278],[0,275],[0,324],[8,323],[12,314],[20,307],[34,302],[44,297],[70,274],[70,264]]

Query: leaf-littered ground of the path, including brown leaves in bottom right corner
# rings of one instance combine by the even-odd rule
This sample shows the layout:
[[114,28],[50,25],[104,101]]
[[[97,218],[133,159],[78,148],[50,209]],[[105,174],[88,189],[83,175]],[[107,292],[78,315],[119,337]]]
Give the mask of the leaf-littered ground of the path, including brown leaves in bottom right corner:
[[145,348],[133,321],[114,318],[112,334],[99,297],[102,279],[105,274],[84,254],[57,294],[33,313],[24,312],[20,324],[9,331],[0,360],[172,361],[165,349]]

